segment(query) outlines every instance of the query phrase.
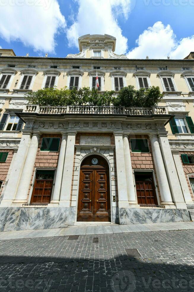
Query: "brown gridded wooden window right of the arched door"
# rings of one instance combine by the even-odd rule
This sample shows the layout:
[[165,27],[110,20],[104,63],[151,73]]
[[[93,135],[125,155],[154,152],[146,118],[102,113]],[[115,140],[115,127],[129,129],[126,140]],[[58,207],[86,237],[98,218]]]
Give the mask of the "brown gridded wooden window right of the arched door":
[[136,173],[137,201],[140,205],[158,205],[152,173]]

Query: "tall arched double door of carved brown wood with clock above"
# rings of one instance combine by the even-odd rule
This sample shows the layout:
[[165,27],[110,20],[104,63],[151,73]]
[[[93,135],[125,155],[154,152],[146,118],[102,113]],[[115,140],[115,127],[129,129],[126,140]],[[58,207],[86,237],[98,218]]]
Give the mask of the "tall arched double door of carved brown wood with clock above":
[[77,221],[111,221],[109,166],[101,156],[91,155],[82,161]]

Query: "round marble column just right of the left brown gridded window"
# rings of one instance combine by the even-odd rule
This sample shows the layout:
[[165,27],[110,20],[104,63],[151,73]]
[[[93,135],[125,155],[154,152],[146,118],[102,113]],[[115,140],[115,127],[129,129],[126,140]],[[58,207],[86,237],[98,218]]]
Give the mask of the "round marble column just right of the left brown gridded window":
[[53,198],[52,201],[48,206],[58,206],[59,204],[59,198],[61,193],[61,184],[62,184],[62,177],[63,177],[63,167],[64,167],[64,161],[65,161],[65,153],[66,153],[66,144],[67,144],[67,133],[61,132],[62,139],[61,139],[61,147],[60,147],[60,153],[58,158],[58,165],[57,165],[57,173],[55,178],[55,185],[53,190]]

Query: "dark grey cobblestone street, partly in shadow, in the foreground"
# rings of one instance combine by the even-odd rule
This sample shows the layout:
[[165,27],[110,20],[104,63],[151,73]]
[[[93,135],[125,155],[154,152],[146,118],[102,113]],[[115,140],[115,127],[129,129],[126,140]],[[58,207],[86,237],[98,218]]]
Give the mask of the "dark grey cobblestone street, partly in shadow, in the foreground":
[[1,240],[0,291],[194,291],[193,242],[192,230]]

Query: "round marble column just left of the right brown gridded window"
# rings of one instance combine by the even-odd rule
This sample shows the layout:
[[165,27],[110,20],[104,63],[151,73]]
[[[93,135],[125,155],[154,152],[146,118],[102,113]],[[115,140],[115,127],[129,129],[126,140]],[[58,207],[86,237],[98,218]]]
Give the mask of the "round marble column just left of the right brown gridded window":
[[135,195],[133,170],[132,170],[132,165],[131,165],[131,154],[130,154],[130,148],[129,148],[129,135],[127,133],[124,133],[123,135],[123,149],[124,149],[125,173],[126,173],[129,207],[136,208],[139,205],[137,203],[137,199]]

